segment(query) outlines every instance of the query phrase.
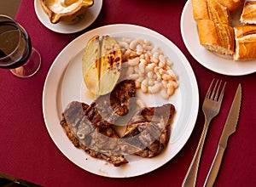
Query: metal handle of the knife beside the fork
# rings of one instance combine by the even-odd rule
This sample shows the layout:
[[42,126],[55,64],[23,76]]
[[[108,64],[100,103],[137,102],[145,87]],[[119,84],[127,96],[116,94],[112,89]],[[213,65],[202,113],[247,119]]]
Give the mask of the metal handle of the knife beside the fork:
[[218,145],[218,150],[215,154],[214,160],[212,161],[212,166],[207,175],[207,180],[204,184],[204,187],[212,187],[213,186],[215,179],[217,178],[218,170],[219,170],[219,167],[221,165],[221,162],[222,162],[222,159],[224,156],[224,150],[225,150],[224,147],[221,147]]

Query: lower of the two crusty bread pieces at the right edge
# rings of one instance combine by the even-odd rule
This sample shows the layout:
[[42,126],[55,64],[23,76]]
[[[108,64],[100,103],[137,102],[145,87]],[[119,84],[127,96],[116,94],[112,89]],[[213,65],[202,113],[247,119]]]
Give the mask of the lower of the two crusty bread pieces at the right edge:
[[236,26],[236,54],[235,60],[256,59],[256,26]]

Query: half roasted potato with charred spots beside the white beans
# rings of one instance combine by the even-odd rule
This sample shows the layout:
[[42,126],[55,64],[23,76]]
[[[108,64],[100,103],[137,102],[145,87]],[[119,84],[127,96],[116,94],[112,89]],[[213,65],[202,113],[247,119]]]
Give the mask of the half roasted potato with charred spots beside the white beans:
[[120,77],[122,53],[113,37],[92,37],[83,56],[83,76],[91,93],[110,93]]

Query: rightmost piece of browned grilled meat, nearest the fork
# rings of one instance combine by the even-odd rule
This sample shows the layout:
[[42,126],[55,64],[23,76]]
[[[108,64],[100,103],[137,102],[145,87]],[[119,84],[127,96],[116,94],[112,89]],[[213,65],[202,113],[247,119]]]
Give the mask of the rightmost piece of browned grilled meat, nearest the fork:
[[124,154],[153,157],[160,154],[170,139],[170,122],[174,105],[144,107],[137,111],[119,139]]

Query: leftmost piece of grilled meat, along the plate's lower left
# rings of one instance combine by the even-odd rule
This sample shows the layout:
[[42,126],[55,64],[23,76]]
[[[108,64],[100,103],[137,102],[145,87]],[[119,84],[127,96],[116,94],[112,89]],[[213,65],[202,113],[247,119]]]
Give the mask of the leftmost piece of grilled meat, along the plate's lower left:
[[119,155],[119,135],[104,122],[101,126],[94,126],[84,115],[84,106],[86,104],[73,101],[63,112],[61,126],[65,129],[67,137],[74,146],[83,149],[92,157],[104,159],[114,166],[127,163],[125,157]]

